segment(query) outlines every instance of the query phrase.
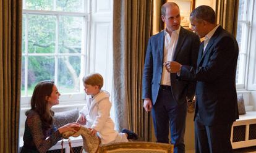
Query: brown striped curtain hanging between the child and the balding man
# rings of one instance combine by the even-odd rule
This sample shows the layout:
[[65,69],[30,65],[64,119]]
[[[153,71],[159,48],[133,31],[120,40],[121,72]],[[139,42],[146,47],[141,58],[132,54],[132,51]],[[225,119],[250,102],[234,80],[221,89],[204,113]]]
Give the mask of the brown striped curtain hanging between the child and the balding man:
[[116,126],[135,131],[150,141],[150,114],[143,110],[142,71],[151,35],[151,0],[114,0],[113,10],[113,105]]

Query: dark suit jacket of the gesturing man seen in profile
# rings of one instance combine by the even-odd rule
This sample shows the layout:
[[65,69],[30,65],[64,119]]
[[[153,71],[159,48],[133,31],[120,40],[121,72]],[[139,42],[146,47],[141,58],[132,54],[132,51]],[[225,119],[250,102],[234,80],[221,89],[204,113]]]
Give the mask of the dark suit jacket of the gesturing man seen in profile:
[[238,45],[233,35],[218,27],[203,52],[197,68],[182,65],[179,79],[197,81],[195,114],[204,125],[232,123],[239,118],[236,94]]

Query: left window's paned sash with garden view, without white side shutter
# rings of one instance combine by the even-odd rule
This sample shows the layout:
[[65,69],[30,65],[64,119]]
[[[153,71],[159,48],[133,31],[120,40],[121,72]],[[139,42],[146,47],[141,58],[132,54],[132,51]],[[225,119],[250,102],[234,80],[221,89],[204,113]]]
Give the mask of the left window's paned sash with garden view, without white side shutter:
[[82,93],[88,10],[85,0],[23,1],[22,97],[32,96],[41,80],[54,80],[64,94]]

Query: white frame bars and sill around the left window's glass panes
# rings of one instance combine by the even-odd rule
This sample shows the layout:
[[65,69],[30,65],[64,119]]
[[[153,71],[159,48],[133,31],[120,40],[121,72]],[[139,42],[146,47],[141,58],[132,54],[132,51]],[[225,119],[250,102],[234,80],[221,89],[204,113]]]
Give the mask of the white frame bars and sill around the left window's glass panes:
[[[56,2],[56,1],[54,1]],[[58,57],[60,56],[79,56],[80,57],[80,76],[84,76],[88,74],[90,61],[88,60],[90,58],[90,25],[91,25],[91,7],[90,0],[85,0],[84,2],[84,8],[85,12],[62,12],[62,11],[55,11],[55,10],[30,10],[25,9],[25,1],[23,1],[23,10],[22,15],[25,15],[25,52],[22,52],[22,58],[24,57],[24,68],[25,68],[25,75],[24,75],[24,81],[25,81],[25,94],[21,96],[21,108],[27,108],[30,107],[30,99],[31,96],[27,94],[27,85],[28,85],[28,57],[31,56],[51,56],[54,57],[54,83],[58,86]],[[56,5],[56,4],[55,4]],[[55,7],[55,6],[54,6]],[[56,16],[56,39],[55,39],[55,51],[54,53],[46,53],[46,54],[38,54],[38,53],[28,53],[28,15],[54,15]],[[59,23],[59,16],[69,16],[69,17],[83,17],[83,26],[82,26],[82,41],[81,41],[81,52],[80,53],[59,53],[58,52],[58,37],[59,37],[59,29],[58,29],[58,23]],[[82,77],[80,77],[80,92],[79,93],[64,93],[61,94],[59,97],[59,101],[61,103],[58,106],[55,107],[63,107],[63,105],[81,105],[84,104],[86,99],[85,93],[83,92],[83,84],[82,84]]]

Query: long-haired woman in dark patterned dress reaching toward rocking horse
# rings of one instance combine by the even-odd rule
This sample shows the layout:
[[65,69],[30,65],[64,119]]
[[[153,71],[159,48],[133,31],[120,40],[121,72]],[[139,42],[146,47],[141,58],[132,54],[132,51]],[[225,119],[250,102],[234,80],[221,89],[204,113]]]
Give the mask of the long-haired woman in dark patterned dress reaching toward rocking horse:
[[53,126],[53,105],[59,104],[59,93],[53,81],[41,81],[35,86],[31,98],[31,109],[25,113],[25,131],[23,136],[22,152],[46,152],[61,140],[61,134],[66,131],[75,131],[78,123],[69,123],[55,128]]

